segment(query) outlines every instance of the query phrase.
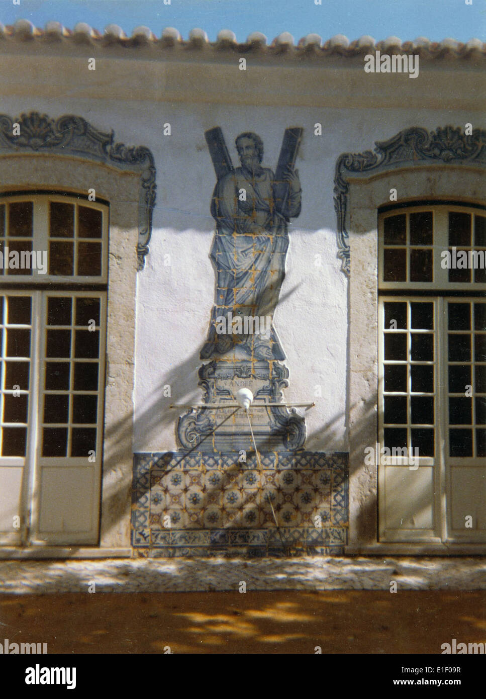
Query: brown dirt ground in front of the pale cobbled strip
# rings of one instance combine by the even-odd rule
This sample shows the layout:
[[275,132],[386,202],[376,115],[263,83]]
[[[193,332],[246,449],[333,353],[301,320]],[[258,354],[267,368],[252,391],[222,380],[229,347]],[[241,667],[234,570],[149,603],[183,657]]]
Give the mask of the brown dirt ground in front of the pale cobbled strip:
[[48,653],[441,653],[486,641],[486,591],[0,596],[0,635]]

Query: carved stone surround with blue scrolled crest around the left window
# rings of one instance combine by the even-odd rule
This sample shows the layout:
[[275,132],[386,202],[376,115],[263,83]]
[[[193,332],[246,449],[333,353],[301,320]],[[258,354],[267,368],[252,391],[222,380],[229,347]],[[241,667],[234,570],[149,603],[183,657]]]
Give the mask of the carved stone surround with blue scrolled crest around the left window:
[[[133,465],[131,440],[136,275],[148,250],[152,225],[155,192],[152,154],[145,148],[126,149],[121,144],[113,144],[112,134],[96,131],[79,117],[61,117],[57,122],[32,113],[29,117],[31,120],[36,117],[37,136],[30,132],[27,134],[28,120],[25,115],[16,119],[0,117],[0,191],[55,190],[86,195],[88,189],[94,188],[97,197],[110,203],[105,439],[99,547],[106,550],[107,556],[126,556],[129,554]],[[22,144],[13,143],[15,137],[11,134],[14,122],[21,124],[21,134],[22,125],[25,126],[24,134],[27,135]],[[52,134],[57,139],[54,144],[49,143]],[[147,192],[147,206],[142,206],[141,197]],[[142,219],[148,226],[145,229],[141,225]],[[138,245],[135,244],[136,240],[139,241]],[[83,552],[89,556],[96,549],[78,548],[73,552],[77,556],[83,555]],[[53,550],[50,549],[50,555],[53,555]],[[2,558],[29,555],[32,553],[27,550],[1,552]],[[59,555],[68,555],[66,547],[60,550]]]

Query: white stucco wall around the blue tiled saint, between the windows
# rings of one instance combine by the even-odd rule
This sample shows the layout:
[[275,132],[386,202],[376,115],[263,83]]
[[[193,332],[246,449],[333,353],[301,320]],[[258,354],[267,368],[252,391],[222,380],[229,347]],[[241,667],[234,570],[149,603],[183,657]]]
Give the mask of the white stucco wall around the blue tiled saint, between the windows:
[[[274,324],[290,370],[288,401],[316,401],[307,411],[306,448],[348,450],[346,433],[347,280],[337,259],[332,199],[341,152],[361,152],[406,127],[463,125],[471,113],[448,110],[336,110],[178,106],[164,109],[172,135],[150,143],[157,163],[154,233],[138,275],[135,451],[176,449],[177,417],[170,403],[199,403],[197,372],[214,301],[209,250],[214,222],[209,203],[215,176],[204,131],[221,126],[233,164],[234,138],[253,130],[263,138],[263,165],[275,168],[283,130],[304,127],[297,157],[302,212],[290,227],[286,279]],[[314,136],[314,124],[323,135]],[[170,266],[164,266],[164,255]],[[321,256],[322,265],[314,264]],[[170,384],[170,397],[163,396]],[[316,385],[322,396],[316,396]]]

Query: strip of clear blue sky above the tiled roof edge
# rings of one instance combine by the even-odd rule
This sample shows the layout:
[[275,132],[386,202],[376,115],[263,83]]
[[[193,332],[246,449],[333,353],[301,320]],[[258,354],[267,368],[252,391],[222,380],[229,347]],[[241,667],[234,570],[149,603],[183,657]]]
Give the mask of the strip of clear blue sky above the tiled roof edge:
[[371,34],[376,40],[399,36],[402,41],[428,36],[432,41],[452,36],[458,41],[486,41],[486,0],[0,0],[0,22],[22,17],[43,27],[58,20],[70,29],[87,22],[98,30],[119,24],[126,34],[140,24],[160,36],[176,27],[187,38],[193,27],[205,29],[214,41],[219,29],[232,29],[238,41],[251,31],[263,31],[271,41],[281,31],[295,40],[314,32],[326,39],[345,34],[350,40]]

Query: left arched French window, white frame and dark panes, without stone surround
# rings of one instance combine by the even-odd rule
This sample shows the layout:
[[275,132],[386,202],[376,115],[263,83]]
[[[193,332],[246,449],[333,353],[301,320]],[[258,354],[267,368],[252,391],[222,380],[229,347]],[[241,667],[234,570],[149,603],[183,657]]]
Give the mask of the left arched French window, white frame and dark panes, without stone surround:
[[0,197],[3,543],[98,540],[108,212],[62,192]]

